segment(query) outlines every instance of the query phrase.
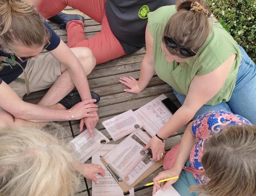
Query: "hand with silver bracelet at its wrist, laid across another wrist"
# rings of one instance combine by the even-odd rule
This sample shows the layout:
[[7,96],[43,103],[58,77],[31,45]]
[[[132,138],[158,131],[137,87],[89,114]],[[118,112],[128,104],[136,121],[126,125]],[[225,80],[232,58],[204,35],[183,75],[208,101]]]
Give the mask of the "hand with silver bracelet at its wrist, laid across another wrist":
[[96,99],[86,99],[76,105],[74,105],[70,110],[70,116],[71,114],[74,115],[74,120],[79,120],[85,117],[96,117],[97,114],[90,114],[89,112],[95,112],[97,111],[97,105],[93,104],[96,102]]

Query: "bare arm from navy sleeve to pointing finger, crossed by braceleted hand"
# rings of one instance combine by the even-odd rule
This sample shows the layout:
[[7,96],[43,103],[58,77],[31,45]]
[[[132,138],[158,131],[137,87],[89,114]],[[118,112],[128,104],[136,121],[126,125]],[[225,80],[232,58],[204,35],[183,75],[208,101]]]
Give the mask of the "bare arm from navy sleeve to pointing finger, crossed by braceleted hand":
[[[80,97],[82,100],[91,99],[89,84],[87,81],[87,77],[85,71],[82,68],[81,62],[79,59],[74,55],[74,53],[67,47],[67,45],[60,41],[60,44],[57,48],[50,51],[50,53],[62,64],[67,67],[69,71],[70,77],[78,90]],[[97,112],[92,112],[92,114],[97,114]],[[92,128],[96,126],[99,117],[95,115],[94,117],[88,117],[85,119],[81,119],[80,122],[80,131],[82,131],[83,124],[86,124],[86,127],[90,133],[93,135]]]

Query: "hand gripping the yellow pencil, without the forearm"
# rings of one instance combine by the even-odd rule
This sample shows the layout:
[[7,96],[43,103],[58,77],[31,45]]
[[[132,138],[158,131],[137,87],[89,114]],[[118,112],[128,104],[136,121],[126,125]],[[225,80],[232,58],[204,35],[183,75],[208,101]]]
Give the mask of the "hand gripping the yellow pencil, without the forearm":
[[154,182],[154,187],[153,187],[153,192],[152,195],[155,195],[156,191],[158,191],[161,187],[162,190],[165,191],[171,184],[175,183],[178,179],[170,180],[167,181],[166,183],[162,182],[161,184],[158,183],[157,181],[167,179],[170,177],[174,176],[179,176],[181,173],[181,170],[178,170],[176,168],[170,168],[166,171],[160,172],[156,177],[154,177],[153,182]]

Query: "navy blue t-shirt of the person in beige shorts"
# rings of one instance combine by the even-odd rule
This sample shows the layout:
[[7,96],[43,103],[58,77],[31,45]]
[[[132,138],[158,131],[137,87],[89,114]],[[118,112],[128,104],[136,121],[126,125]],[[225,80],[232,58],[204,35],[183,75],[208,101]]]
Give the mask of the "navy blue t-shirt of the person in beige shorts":
[[[48,23],[45,21],[45,26],[50,30],[51,37],[50,37],[50,44],[46,48],[46,50],[51,51],[58,47],[60,44],[60,37],[50,28]],[[11,59],[11,54],[5,53],[4,51],[0,50],[0,56],[8,57]],[[15,59],[20,65],[25,69],[27,62],[22,63],[18,58]],[[22,69],[19,65],[12,66],[4,66],[2,70],[0,71],[0,84],[2,83],[2,80],[9,84],[22,73]]]

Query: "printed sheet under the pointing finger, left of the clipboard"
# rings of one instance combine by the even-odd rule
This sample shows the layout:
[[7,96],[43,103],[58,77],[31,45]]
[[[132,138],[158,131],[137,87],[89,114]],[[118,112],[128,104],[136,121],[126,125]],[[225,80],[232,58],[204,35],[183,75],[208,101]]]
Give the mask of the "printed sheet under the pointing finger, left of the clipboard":
[[86,129],[70,141],[75,146],[74,155],[77,161],[84,163],[105,145],[101,142],[109,142],[109,139],[96,128],[93,128],[93,135],[94,137],[91,137]]

